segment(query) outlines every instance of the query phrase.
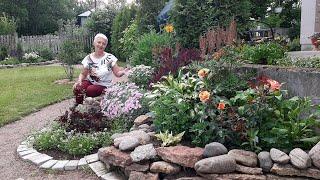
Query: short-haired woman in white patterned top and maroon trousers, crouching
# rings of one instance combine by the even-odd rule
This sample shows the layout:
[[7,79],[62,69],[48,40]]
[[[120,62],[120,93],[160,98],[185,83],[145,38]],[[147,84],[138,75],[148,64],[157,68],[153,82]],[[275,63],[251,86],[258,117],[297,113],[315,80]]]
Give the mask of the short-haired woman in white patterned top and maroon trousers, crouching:
[[104,34],[97,34],[94,37],[94,52],[82,60],[82,71],[78,81],[73,85],[73,92],[76,97],[76,104],[82,104],[84,95],[97,97],[103,90],[112,85],[112,73],[116,77],[123,76],[128,69],[117,65],[117,58],[105,52],[108,38]]

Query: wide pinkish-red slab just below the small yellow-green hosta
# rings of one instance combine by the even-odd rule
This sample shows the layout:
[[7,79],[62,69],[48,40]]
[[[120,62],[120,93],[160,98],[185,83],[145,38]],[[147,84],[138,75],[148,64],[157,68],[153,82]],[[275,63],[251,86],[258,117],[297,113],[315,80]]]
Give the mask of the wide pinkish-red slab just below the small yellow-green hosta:
[[156,149],[158,156],[164,161],[193,168],[194,164],[202,159],[202,148],[187,146],[159,147]]

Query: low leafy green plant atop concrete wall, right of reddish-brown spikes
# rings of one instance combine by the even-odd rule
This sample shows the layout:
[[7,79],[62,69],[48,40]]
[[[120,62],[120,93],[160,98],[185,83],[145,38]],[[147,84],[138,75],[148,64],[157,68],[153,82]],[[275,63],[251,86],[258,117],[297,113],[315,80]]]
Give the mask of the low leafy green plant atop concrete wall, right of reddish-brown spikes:
[[280,44],[268,42],[254,46],[245,45],[242,53],[243,59],[251,63],[272,65],[285,56],[285,49]]

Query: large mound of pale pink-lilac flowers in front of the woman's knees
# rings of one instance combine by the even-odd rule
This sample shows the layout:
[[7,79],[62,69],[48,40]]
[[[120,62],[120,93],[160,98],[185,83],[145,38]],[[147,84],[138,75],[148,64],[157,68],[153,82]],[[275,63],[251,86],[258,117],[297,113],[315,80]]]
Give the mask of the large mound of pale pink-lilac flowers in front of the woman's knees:
[[101,101],[102,112],[110,119],[130,115],[142,107],[143,94],[134,83],[115,84],[107,88]]

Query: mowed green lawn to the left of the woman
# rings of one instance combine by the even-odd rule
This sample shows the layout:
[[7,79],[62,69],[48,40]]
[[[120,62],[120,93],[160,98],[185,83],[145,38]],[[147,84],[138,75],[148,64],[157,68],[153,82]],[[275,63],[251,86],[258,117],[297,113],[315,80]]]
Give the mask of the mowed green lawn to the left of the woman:
[[0,69],[0,127],[72,97],[72,84],[54,83],[65,77],[63,67],[59,66]]

